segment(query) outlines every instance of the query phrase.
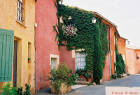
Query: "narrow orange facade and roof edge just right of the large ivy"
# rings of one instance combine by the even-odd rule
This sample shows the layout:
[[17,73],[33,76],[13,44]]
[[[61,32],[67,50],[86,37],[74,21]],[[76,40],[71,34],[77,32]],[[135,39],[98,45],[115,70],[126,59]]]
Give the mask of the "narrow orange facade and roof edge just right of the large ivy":
[[108,46],[109,52],[106,56],[105,67],[103,70],[103,81],[110,80],[111,76],[115,73],[115,32],[117,31],[117,27],[111,21],[103,17],[102,15],[93,12],[93,14],[99,17],[102,22],[109,26],[108,30]]

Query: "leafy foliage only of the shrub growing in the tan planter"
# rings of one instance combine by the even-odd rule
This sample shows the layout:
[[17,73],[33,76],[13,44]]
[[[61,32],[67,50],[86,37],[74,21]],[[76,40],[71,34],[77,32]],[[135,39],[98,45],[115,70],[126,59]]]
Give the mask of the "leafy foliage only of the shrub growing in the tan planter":
[[60,64],[57,69],[51,71],[50,80],[55,85],[56,91],[59,91],[62,83],[67,86],[75,84],[76,77],[77,75],[71,74],[71,70],[65,64]]

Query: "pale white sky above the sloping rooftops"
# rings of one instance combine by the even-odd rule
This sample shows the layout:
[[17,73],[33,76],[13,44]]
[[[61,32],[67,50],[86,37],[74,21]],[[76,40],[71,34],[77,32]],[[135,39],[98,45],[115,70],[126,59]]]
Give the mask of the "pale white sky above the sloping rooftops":
[[100,13],[117,25],[122,37],[140,47],[140,0],[63,0],[63,4]]

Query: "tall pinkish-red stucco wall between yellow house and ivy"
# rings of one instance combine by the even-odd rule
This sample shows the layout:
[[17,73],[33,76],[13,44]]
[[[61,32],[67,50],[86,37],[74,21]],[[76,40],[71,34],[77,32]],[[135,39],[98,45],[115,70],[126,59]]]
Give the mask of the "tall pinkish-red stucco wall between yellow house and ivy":
[[50,54],[58,55],[53,26],[57,23],[55,0],[37,0],[36,2],[36,87],[37,90],[49,86],[47,76],[50,73]]

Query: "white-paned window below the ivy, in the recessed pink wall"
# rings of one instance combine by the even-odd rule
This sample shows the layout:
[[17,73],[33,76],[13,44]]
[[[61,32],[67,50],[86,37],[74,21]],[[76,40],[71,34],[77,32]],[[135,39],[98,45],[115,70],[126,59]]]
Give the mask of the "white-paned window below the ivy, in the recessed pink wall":
[[80,53],[80,51],[76,51],[75,53],[75,65],[76,70],[78,69],[84,69],[86,66],[86,54]]

